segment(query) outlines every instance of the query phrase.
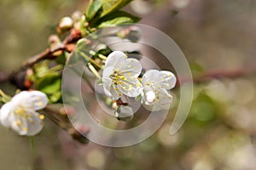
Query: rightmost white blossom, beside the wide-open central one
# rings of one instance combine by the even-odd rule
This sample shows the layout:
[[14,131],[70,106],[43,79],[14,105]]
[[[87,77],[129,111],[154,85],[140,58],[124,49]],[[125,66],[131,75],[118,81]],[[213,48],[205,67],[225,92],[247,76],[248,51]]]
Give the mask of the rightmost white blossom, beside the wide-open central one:
[[176,77],[170,71],[150,70],[143,75],[142,103],[149,111],[167,110],[172,102],[169,93],[174,88]]

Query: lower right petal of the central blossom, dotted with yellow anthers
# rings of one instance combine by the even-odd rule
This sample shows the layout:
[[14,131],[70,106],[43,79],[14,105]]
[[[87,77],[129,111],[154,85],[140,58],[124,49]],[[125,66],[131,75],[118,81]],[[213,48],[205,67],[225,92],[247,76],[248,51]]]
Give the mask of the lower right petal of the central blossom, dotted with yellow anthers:
[[137,97],[143,91],[143,85],[137,78],[122,80],[122,82],[117,85],[117,88],[122,94],[131,98]]

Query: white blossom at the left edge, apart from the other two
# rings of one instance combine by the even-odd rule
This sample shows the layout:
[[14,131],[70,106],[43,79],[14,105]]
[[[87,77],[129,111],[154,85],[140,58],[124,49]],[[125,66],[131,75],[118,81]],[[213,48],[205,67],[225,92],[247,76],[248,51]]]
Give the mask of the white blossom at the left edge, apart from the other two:
[[0,122],[4,127],[15,130],[20,135],[32,136],[43,128],[44,115],[38,110],[48,104],[46,95],[39,91],[22,91],[4,104],[0,110]]

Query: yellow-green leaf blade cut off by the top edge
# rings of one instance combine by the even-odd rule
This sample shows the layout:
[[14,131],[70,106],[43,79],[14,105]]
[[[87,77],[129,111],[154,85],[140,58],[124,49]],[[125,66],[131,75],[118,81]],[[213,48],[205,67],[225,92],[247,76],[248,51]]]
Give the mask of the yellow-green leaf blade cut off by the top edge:
[[102,0],[101,17],[125,7],[125,5],[127,5],[131,1],[132,0]]

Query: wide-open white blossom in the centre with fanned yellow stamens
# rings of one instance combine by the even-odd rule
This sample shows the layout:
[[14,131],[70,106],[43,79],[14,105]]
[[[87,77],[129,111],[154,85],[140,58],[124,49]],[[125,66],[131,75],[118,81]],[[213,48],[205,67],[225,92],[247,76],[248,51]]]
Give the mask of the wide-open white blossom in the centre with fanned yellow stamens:
[[108,55],[102,82],[104,92],[112,99],[119,99],[122,94],[128,97],[137,97],[141,94],[143,86],[137,80],[142,71],[142,65],[137,59],[127,59],[120,51],[113,51]]

